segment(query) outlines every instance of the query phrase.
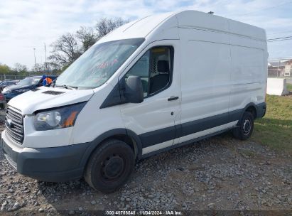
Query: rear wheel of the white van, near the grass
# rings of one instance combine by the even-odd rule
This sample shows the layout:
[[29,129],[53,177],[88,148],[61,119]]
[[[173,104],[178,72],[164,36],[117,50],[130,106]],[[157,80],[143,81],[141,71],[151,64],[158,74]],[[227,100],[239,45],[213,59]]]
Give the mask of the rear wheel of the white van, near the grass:
[[252,136],[252,131],[254,131],[254,115],[250,112],[244,112],[237,128],[232,131],[233,136],[236,139],[247,140]]

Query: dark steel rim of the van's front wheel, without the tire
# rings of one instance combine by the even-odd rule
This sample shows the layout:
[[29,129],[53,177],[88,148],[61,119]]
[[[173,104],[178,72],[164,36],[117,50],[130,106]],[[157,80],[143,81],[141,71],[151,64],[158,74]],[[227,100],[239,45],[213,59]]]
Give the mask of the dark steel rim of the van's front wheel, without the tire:
[[119,177],[124,170],[124,160],[120,156],[110,156],[104,161],[103,173],[107,179]]

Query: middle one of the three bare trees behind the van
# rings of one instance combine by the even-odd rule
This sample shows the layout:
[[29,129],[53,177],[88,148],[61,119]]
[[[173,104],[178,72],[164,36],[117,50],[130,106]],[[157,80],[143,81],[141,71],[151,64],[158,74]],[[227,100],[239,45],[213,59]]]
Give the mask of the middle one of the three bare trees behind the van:
[[91,27],[81,26],[78,31],[76,31],[75,36],[82,43],[82,52],[85,52],[97,42],[97,36]]

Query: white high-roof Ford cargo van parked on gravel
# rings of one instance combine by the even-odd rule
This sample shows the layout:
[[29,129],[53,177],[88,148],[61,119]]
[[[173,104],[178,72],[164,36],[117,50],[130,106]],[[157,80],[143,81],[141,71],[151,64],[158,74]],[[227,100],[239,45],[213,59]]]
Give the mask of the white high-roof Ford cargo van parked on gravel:
[[11,99],[4,154],[23,175],[111,192],[146,156],[227,130],[249,138],[266,112],[267,57],[263,29],[208,13],[126,23],[51,87]]

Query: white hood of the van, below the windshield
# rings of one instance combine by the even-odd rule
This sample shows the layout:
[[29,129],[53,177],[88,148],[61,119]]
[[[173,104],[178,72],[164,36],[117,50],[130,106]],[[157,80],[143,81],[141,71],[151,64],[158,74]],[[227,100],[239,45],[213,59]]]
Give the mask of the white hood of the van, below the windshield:
[[20,109],[22,114],[33,114],[33,112],[41,109],[86,102],[93,94],[93,90],[67,90],[63,88],[38,87],[35,90],[13,97],[8,105]]

